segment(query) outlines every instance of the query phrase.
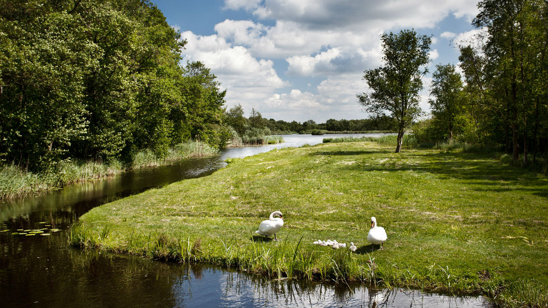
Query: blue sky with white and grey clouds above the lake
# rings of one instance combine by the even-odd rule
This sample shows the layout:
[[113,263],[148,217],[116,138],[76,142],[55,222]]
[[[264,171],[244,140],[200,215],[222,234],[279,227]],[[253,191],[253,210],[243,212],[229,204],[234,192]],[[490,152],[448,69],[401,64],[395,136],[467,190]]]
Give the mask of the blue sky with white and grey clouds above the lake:
[[264,118],[369,117],[356,94],[364,71],[382,66],[380,35],[413,28],[432,36],[421,108],[437,64],[458,64],[458,42],[476,30],[477,0],[152,0],[187,40],[186,61],[202,61],[241,104]]

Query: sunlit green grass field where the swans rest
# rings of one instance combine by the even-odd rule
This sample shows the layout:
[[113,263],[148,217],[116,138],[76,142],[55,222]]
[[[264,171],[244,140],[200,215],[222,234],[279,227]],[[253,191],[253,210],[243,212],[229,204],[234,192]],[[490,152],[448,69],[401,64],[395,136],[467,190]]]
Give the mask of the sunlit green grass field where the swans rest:
[[[489,156],[373,141],[232,159],[210,176],[95,208],[75,245],[236,267],[271,277],[362,280],[548,305],[548,179]],[[255,235],[281,210],[280,242]],[[367,243],[369,219],[384,250]],[[313,245],[354,242],[356,253]]]

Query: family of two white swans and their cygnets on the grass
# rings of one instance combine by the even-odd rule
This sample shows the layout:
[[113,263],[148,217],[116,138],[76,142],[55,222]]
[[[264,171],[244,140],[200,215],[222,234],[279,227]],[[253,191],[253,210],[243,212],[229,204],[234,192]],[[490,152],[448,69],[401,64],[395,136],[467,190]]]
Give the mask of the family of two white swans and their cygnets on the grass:
[[[276,238],[276,233],[278,233],[278,231],[282,229],[282,226],[283,215],[282,212],[279,212],[279,210],[277,210],[276,212],[272,212],[272,214],[270,214],[268,220],[261,221],[261,223],[259,224],[259,230],[255,231],[255,233],[266,237],[274,235],[274,240],[278,241],[278,239]],[[367,241],[375,245],[380,245],[380,249],[384,249],[383,243],[384,241],[386,241],[386,231],[383,227],[379,227],[376,225],[375,217],[371,218],[371,229],[367,234]],[[332,241],[330,239],[328,239],[327,241],[322,241],[321,239],[318,239],[317,241],[313,242],[313,244],[319,246],[331,246],[333,249],[346,248],[346,243],[339,243],[335,240]],[[353,242],[350,243],[350,246],[348,248],[352,252],[356,252],[357,249]]]

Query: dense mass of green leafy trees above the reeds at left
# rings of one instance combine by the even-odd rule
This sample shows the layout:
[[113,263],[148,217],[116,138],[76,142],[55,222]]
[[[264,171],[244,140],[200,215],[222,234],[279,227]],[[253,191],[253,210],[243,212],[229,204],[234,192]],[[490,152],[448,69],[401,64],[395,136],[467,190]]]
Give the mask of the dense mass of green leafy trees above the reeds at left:
[[0,1],[0,161],[165,157],[190,138],[219,146],[225,92],[150,2]]

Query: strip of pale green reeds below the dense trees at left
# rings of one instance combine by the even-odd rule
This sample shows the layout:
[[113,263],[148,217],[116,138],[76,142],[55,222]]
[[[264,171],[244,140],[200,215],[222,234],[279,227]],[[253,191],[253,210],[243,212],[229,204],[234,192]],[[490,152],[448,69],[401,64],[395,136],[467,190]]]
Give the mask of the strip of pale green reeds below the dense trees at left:
[[0,200],[20,198],[58,189],[75,182],[103,179],[128,169],[171,164],[182,158],[214,155],[218,150],[203,142],[188,141],[169,149],[168,155],[158,158],[149,150],[138,152],[133,162],[124,166],[121,162],[70,161],[59,163],[48,173],[25,172],[13,165],[0,166]]

